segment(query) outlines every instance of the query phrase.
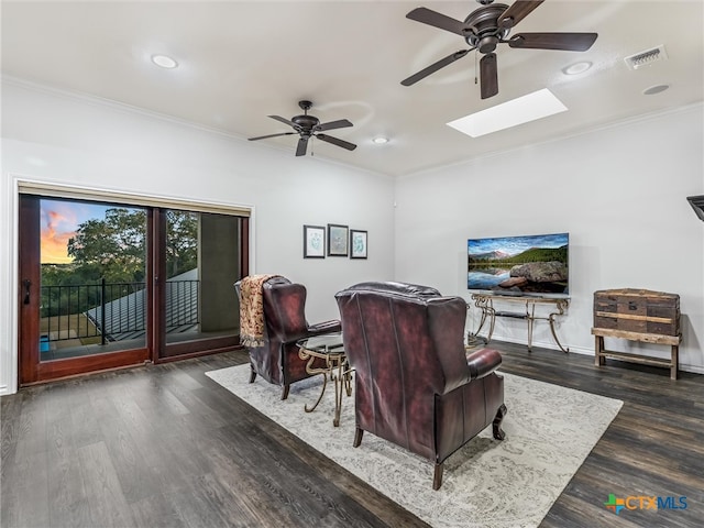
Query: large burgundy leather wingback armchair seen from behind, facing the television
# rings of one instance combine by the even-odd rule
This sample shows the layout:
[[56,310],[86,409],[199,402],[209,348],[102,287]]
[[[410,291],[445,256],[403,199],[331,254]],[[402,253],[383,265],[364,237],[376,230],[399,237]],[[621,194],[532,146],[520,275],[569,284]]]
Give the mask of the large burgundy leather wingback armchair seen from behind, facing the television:
[[405,283],[362,283],[336,295],[344,350],[355,370],[354,447],[364,431],[435,462],[444,460],[506,414],[496,350],[468,353],[466,304]]

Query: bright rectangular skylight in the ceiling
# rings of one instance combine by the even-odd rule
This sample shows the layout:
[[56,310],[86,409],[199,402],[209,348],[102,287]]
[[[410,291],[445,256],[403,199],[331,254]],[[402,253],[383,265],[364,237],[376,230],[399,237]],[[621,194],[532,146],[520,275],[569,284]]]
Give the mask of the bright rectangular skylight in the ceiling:
[[480,135],[564,112],[566,109],[568,107],[562,105],[562,101],[554,97],[550,90],[543,88],[527,96],[450,121],[448,125],[472,138],[479,138]]

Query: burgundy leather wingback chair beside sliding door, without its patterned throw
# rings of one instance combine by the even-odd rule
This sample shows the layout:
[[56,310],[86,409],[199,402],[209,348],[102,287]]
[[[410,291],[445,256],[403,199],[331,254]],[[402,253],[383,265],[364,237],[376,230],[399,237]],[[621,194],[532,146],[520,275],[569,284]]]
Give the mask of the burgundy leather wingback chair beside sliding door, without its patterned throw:
[[[238,280],[234,284],[240,300],[241,283],[242,280]],[[262,294],[263,343],[258,346],[246,346],[252,370],[250,383],[254,383],[258,374],[267,382],[282,386],[282,399],[286,399],[292,383],[310,377],[306,372],[306,362],[298,356],[296,341],[311,336],[339,332],[340,321],[336,319],[308,324],[306,287],[285,277],[274,276],[267,279],[262,286]]]

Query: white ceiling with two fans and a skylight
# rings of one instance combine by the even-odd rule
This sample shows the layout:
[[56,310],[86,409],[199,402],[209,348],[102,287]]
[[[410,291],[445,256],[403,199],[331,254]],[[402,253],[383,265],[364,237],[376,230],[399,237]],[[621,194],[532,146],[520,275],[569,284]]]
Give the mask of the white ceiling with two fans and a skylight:
[[[513,3],[504,0],[505,3]],[[411,87],[400,80],[469,46],[452,33],[406,19],[425,6],[464,20],[480,6],[446,1],[2,1],[6,76],[119,101],[233,136],[287,132],[298,101],[321,122],[349,119],[330,135],[350,152],[315,141],[318,157],[405,175],[579,134],[704,98],[704,2],[547,0],[512,34],[597,32],[584,53],[497,48],[499,94],[480,98],[475,56]],[[638,70],[624,57],[664,45],[667,61]],[[167,70],[150,62],[166,54]],[[568,77],[561,68],[591,61]],[[653,85],[670,88],[653,96]],[[448,121],[549,88],[569,111],[472,139]],[[372,138],[389,143],[375,145]],[[294,156],[297,136],[261,140],[258,148]],[[309,147],[310,152],[310,147]]]

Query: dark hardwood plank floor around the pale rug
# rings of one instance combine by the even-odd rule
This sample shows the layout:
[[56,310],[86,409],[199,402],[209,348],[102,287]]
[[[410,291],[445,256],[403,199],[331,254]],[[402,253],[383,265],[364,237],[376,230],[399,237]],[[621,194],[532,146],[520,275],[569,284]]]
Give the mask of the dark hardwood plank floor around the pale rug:
[[[625,402],[541,526],[702,526],[704,376],[492,346],[507,373]],[[244,362],[230,352],[2,397],[0,526],[427,526],[204,374]],[[686,508],[617,516],[609,494]]]

